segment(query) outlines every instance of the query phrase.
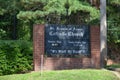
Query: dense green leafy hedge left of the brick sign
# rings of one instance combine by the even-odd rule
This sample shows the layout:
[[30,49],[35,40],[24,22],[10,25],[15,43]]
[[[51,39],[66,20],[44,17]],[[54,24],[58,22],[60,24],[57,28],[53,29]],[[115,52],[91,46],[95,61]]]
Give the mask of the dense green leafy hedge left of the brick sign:
[[0,41],[0,75],[32,70],[32,43],[28,41]]

